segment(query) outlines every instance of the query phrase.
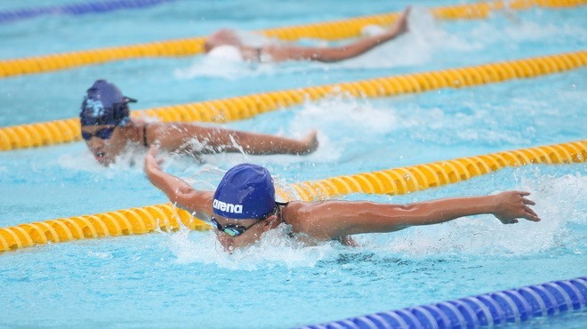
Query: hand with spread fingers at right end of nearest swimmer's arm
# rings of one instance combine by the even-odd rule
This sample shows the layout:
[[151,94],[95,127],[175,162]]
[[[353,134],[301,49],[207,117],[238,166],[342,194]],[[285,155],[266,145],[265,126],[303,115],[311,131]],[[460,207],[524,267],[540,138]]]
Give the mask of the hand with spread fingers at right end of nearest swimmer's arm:
[[495,211],[493,214],[503,224],[514,224],[519,218],[528,221],[540,221],[540,217],[529,205],[536,203],[528,198],[530,193],[522,191],[507,191],[497,194],[495,197]]

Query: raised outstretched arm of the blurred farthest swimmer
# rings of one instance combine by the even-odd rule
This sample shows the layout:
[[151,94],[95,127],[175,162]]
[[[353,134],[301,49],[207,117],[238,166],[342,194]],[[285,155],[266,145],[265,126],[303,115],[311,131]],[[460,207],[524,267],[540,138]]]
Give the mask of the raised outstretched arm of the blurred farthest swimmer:
[[406,32],[407,15],[410,7],[406,7],[395,24],[378,36],[366,36],[360,40],[345,44],[339,47],[302,47],[297,45],[274,45],[268,46],[266,52],[269,53],[272,60],[318,60],[324,62],[334,62],[347,60],[363,54],[379,44],[390,41]]

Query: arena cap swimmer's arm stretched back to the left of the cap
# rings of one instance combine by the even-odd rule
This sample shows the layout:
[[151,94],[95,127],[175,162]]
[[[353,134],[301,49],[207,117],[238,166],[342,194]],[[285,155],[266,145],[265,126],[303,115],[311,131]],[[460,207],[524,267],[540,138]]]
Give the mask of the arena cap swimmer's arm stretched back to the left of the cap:
[[159,167],[161,160],[155,158],[157,148],[151,147],[145,157],[144,171],[151,184],[161,189],[169,200],[193,213],[198,218],[208,218],[212,215],[212,191],[200,191],[192,188],[185,181],[169,173],[165,173]]

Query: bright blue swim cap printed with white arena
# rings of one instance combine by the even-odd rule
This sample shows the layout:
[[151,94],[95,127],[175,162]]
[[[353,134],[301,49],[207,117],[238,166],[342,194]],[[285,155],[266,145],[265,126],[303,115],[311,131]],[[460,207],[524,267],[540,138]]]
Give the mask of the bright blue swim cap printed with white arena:
[[260,218],[275,209],[275,188],[267,169],[237,164],[222,178],[214,193],[213,213],[234,220]]

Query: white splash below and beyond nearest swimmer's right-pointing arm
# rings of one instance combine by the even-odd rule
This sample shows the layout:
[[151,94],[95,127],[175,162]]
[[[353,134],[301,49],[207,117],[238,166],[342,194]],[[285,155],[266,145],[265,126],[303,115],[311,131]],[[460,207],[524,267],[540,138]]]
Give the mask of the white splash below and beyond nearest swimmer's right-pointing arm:
[[[519,179],[520,190],[531,192],[535,212],[543,221],[520,220],[503,225],[491,215],[459,219],[430,227],[415,227],[382,237],[364,237],[370,248],[403,253],[411,257],[443,254],[499,255],[504,257],[559,250],[573,251],[583,244],[585,213],[584,189],[587,178],[579,173],[552,177],[537,168],[526,169]],[[578,223],[576,234],[567,229]],[[582,233],[583,232],[583,233]]]

